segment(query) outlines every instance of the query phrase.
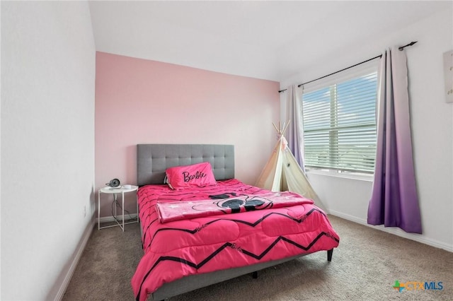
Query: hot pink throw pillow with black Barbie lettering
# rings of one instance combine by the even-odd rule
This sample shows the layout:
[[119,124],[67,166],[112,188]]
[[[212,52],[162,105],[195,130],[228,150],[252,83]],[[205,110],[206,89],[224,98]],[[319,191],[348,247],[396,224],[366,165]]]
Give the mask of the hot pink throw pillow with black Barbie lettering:
[[168,186],[176,190],[217,184],[209,162],[170,167],[166,170],[166,175]]

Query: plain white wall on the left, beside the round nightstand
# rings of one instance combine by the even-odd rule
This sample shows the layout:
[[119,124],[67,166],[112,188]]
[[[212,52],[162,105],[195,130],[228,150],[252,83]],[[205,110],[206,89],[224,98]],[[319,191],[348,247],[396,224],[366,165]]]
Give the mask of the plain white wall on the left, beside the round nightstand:
[[2,1],[1,46],[0,299],[53,300],[93,225],[88,3]]

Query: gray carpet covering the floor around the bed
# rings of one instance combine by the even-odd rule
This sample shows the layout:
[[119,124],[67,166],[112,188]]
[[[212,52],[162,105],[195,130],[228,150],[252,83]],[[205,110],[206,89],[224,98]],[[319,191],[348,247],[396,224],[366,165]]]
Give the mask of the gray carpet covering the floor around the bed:
[[[453,300],[453,253],[329,216],[340,235],[333,259],[310,254],[172,297],[186,300]],[[93,230],[63,300],[134,300],[130,279],[142,256],[139,226]],[[442,282],[442,290],[392,288]],[[436,288],[439,288],[436,285]]]

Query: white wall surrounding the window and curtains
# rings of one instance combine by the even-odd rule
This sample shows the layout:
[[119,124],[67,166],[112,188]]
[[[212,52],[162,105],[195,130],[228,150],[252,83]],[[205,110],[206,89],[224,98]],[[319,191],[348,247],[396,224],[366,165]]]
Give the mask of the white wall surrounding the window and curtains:
[[[453,49],[452,12],[453,8],[407,28],[370,36],[349,49],[333,48],[331,57],[322,64],[281,83],[281,88],[286,88],[310,81],[374,57],[386,47],[418,41],[406,53],[423,235],[407,234],[398,228],[385,230],[449,251],[453,251],[453,104],[445,102],[442,54]],[[331,213],[366,223],[372,182],[313,174],[309,178]]]

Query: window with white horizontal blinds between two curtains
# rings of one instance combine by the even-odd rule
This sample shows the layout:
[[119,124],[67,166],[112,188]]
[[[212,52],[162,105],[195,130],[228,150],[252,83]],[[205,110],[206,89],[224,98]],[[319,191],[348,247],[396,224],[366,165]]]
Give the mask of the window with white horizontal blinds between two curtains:
[[377,66],[302,93],[304,164],[336,173],[373,173]]

